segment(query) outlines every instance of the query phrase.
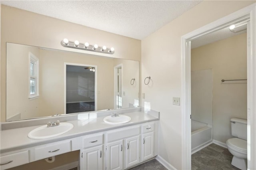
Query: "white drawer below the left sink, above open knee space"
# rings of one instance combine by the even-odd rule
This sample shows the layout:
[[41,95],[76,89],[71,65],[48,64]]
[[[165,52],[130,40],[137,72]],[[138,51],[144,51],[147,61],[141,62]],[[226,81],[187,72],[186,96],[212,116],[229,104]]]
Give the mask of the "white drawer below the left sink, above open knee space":
[[45,144],[35,148],[35,160],[48,158],[71,151],[70,140]]

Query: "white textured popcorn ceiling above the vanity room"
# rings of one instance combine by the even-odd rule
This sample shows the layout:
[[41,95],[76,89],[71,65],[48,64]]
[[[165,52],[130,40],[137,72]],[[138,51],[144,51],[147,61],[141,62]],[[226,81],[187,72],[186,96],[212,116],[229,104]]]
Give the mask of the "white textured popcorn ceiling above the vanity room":
[[201,0],[1,0],[1,4],[142,40]]

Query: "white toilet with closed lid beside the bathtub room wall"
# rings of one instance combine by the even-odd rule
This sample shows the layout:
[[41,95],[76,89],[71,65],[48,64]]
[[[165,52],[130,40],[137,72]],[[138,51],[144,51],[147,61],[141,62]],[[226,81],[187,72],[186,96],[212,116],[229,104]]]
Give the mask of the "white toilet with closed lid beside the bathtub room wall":
[[231,133],[236,138],[230,138],[226,144],[233,155],[231,164],[241,170],[247,170],[247,120],[232,118]]

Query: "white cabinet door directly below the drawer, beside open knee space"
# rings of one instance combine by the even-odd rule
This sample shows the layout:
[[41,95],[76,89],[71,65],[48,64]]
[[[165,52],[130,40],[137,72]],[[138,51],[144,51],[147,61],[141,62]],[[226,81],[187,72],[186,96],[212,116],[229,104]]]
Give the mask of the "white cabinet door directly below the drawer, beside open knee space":
[[82,152],[82,170],[103,169],[103,145],[84,149]]

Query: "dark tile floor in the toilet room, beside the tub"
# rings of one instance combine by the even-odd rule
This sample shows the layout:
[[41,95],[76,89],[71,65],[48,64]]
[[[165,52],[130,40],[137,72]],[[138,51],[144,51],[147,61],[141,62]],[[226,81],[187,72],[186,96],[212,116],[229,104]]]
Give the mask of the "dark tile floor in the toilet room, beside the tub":
[[191,156],[192,170],[239,170],[231,165],[232,154],[217,144],[210,144]]

